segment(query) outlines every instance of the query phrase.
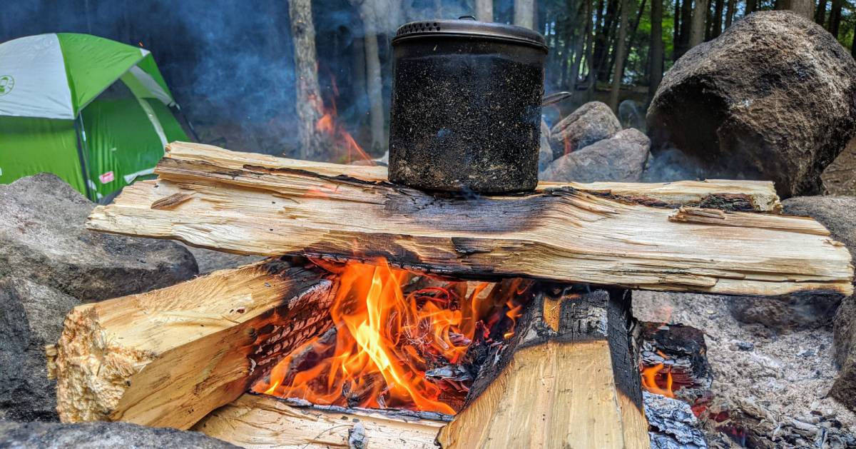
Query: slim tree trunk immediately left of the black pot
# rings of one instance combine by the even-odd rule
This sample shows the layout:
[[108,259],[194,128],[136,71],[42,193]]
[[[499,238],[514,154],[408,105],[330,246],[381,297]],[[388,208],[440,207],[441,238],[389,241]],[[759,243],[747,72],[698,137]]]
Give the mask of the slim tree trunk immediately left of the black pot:
[[372,131],[373,154],[383,153],[386,138],[383,134],[383,80],[380,69],[380,50],[377,46],[376,0],[360,3],[360,18],[366,31],[366,87],[369,96],[369,123]]

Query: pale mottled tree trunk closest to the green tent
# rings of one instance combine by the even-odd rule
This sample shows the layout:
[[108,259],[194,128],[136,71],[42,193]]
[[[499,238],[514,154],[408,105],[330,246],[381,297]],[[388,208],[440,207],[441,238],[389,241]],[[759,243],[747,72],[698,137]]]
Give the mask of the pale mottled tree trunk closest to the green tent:
[[318,87],[318,56],[315,53],[315,26],[312,24],[312,2],[289,0],[291,35],[294,40],[294,71],[297,75],[297,130],[300,159],[314,159],[324,151],[324,140],[315,130],[324,104]]

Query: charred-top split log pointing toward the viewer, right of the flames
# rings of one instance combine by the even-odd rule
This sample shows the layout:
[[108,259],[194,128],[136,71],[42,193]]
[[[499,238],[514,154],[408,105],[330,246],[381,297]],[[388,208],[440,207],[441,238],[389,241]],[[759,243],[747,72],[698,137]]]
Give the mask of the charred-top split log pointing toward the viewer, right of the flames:
[[437,440],[446,448],[649,447],[629,294],[534,293],[498,362],[479,373]]

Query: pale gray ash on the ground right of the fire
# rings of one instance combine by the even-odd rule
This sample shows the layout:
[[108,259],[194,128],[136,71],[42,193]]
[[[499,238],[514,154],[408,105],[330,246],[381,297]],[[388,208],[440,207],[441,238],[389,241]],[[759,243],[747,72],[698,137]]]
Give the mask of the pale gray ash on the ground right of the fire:
[[704,332],[714,380],[700,418],[710,447],[856,447],[856,415],[826,397],[838,373],[832,329],[742,324],[733,301],[752,298],[633,293],[638,320]]

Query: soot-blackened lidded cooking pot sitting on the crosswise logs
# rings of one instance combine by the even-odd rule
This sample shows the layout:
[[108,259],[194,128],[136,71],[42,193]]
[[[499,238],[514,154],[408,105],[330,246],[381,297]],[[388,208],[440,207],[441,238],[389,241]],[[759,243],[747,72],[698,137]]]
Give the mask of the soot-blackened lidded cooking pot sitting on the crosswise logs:
[[538,183],[544,36],[474,20],[411,22],[392,39],[389,181],[500,194]]

